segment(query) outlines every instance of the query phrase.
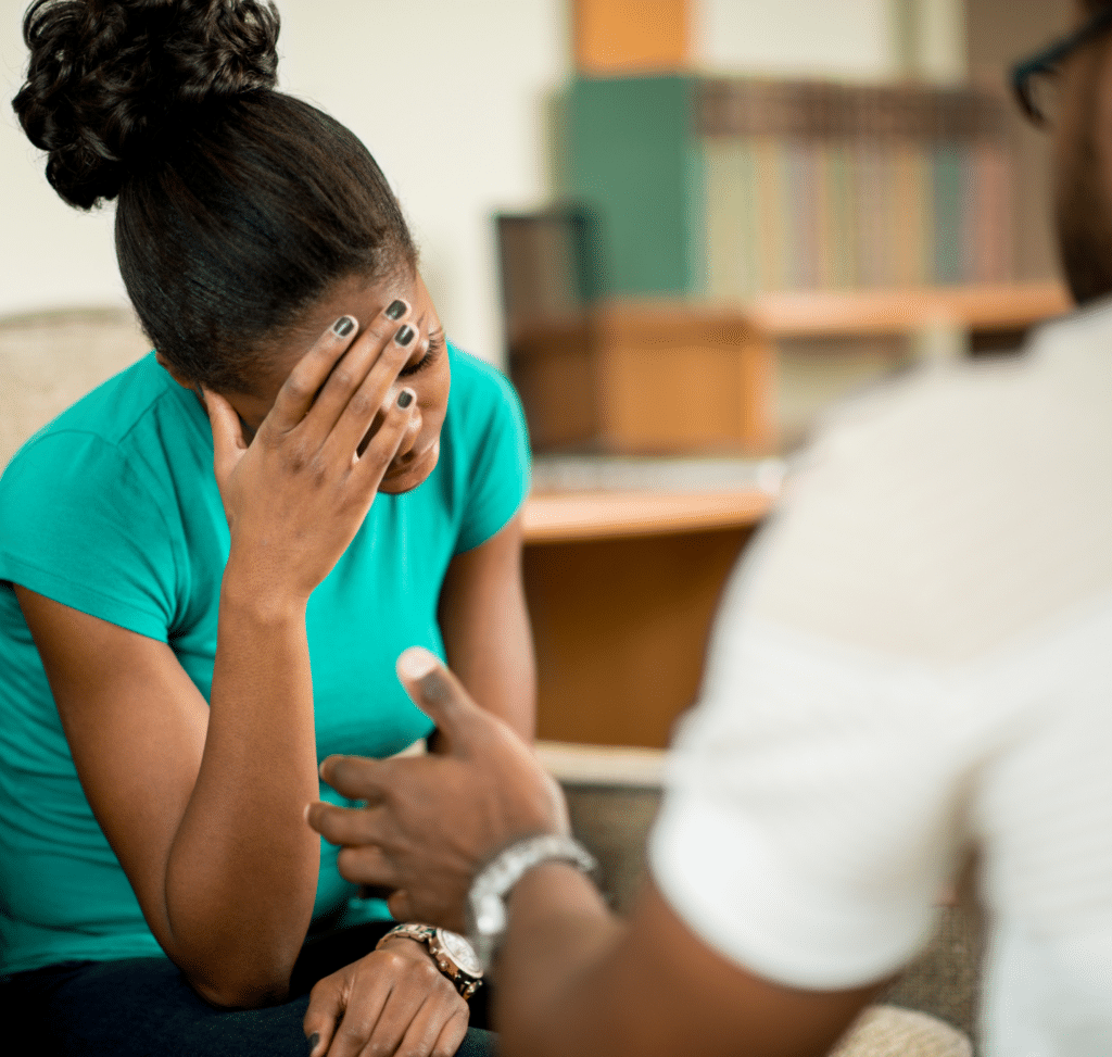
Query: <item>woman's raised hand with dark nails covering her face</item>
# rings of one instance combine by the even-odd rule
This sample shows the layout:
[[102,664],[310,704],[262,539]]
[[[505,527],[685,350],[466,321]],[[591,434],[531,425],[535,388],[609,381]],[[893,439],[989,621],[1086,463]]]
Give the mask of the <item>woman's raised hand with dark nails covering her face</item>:
[[231,404],[205,391],[231,530],[228,570],[257,604],[308,600],[363,524],[410,428],[414,393],[394,388],[417,334],[399,304],[403,314],[391,305],[361,333],[350,316],[325,332],[250,443]]

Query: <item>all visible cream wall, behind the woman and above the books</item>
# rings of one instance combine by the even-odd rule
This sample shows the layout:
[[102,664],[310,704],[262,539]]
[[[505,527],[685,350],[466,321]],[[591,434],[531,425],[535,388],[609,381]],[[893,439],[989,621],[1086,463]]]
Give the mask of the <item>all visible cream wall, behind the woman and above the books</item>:
[[[22,80],[24,7],[0,0],[6,100]],[[499,359],[489,217],[553,192],[548,103],[570,72],[566,0],[279,0],[279,8],[281,86],[364,138],[413,220],[450,333]],[[693,8],[695,65],[707,70],[875,79],[909,63],[930,72],[959,61],[944,43],[940,58],[937,27],[954,24],[961,0],[697,0]],[[907,24],[920,42],[909,43]],[[122,300],[111,208],[66,207],[7,103],[0,110],[0,313]]]

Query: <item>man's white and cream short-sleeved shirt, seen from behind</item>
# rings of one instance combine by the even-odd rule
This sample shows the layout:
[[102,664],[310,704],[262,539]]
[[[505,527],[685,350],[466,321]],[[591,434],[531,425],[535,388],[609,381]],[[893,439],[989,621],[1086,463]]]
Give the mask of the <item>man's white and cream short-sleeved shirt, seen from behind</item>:
[[1112,1055],[1112,306],[845,408],[735,572],[654,877],[768,979],[878,980],[980,853],[994,1057]]

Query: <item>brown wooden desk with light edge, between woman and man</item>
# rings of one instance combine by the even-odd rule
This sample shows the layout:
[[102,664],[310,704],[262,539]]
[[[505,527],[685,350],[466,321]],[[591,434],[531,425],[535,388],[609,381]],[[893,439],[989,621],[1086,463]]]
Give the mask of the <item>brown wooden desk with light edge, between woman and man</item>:
[[772,502],[757,490],[529,497],[538,738],[668,743],[698,692],[722,589]]

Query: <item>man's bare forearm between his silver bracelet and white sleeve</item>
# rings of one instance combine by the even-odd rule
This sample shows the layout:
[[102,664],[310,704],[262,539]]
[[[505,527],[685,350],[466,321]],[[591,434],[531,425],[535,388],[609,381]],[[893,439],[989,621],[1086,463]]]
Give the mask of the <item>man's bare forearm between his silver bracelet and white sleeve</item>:
[[881,986],[773,984],[707,947],[652,883],[623,925],[563,863],[515,888],[497,979],[510,1057],[817,1057]]

